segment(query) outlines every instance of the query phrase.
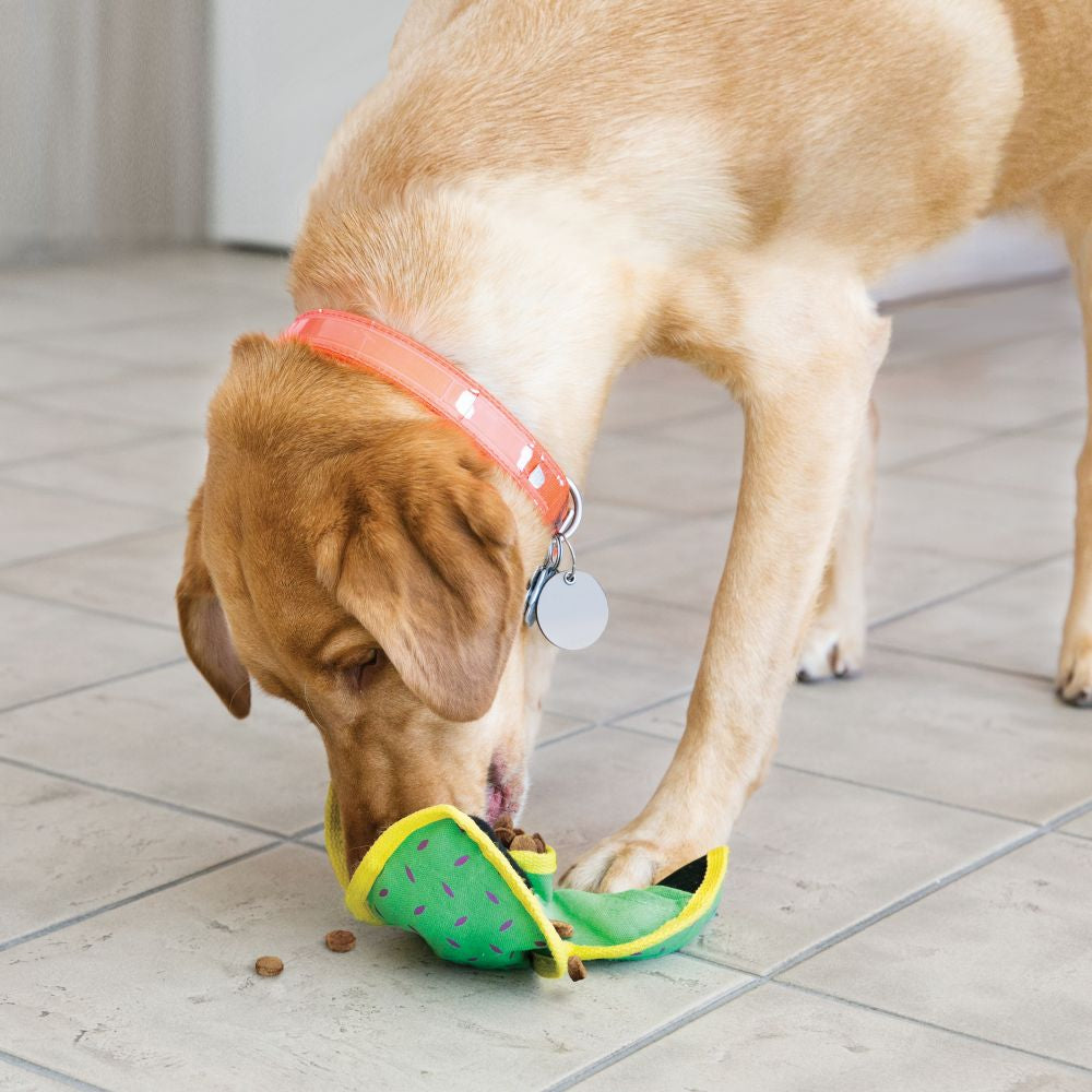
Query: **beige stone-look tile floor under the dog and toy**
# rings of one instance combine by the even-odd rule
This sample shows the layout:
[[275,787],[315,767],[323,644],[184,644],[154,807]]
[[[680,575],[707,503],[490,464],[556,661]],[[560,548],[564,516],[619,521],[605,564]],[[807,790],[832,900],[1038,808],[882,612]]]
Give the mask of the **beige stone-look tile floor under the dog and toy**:
[[[361,927],[330,957],[318,738],[271,700],[234,722],[183,660],[203,405],[232,339],[289,318],[283,274],[215,250],[0,273],[0,1090],[1092,1090],[1092,712],[1049,685],[1070,285],[898,309],[868,673],[791,695],[702,939],[574,987]],[[681,731],[740,434],[669,361],[612,402],[581,557],[613,620],[560,665],[527,808],[566,856]]]

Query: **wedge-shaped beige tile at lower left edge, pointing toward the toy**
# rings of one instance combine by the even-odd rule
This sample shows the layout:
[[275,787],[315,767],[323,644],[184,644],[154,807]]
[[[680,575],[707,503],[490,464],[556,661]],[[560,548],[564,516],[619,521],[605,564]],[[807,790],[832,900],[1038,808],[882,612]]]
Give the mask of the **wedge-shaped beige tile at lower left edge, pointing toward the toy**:
[[[17,899],[0,902],[0,943],[268,841],[250,831],[3,763],[0,787],[4,888],[19,892]],[[10,964],[11,959],[0,954],[0,964]],[[5,966],[0,990],[11,984],[8,974]],[[0,1031],[0,1048],[10,1047],[4,1038]]]

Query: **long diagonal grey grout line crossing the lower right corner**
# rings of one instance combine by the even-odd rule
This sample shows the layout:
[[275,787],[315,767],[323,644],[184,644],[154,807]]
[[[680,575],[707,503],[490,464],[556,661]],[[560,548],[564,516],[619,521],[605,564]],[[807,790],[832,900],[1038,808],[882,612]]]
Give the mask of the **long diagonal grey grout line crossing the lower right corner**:
[[[713,1011],[714,1009],[727,1005],[736,997],[740,997],[744,994],[750,993],[752,989],[757,989],[759,986],[765,983],[772,982],[778,975],[784,974],[787,971],[792,971],[800,963],[804,963],[807,960],[812,959],[820,952],[823,952],[829,948],[833,948],[835,945],[841,943],[843,940],[852,936],[855,936],[858,933],[863,933],[865,929],[877,924],[878,922],[881,922],[888,917],[891,917],[894,914],[898,914],[900,911],[914,905],[914,903],[921,902],[921,900],[925,899],[926,897],[934,894],[935,892],[940,891],[946,887],[949,887],[950,885],[957,882],[958,880],[963,879],[965,876],[970,876],[972,873],[976,873],[980,869],[985,868],[987,865],[990,865],[994,862],[999,860],[1001,857],[1006,857],[1009,854],[1014,853],[1017,850],[1022,848],[1029,843],[1037,841],[1038,839],[1045,836],[1046,834],[1053,833],[1055,830],[1057,830],[1058,827],[1064,826],[1067,822],[1071,822],[1073,819],[1077,819],[1080,816],[1087,815],[1089,812],[1092,812],[1092,800],[1088,800],[1084,804],[1078,805],[1075,808],[1070,808],[1068,811],[1064,811],[1061,815],[1055,816],[1055,818],[1051,819],[1048,822],[1045,822],[1038,827],[1033,828],[1030,831],[1026,831],[1019,838],[1016,838],[1010,842],[1006,842],[1004,845],[998,846],[996,850],[993,850],[992,852],[985,854],[984,856],[975,860],[972,860],[969,864],[961,866],[960,868],[953,869],[950,873],[946,873],[943,876],[940,876],[935,880],[930,880],[928,883],[923,885],[917,890],[910,892],[910,894],[903,895],[901,899],[897,899],[894,902],[889,903],[887,906],[881,906],[878,911],[867,915],[866,917],[860,918],[858,922],[854,922],[853,924],[845,926],[845,928],[838,929],[836,931],[829,934],[827,937],[817,940],[815,943],[809,945],[807,948],[802,949],[794,956],[790,956],[788,958],[782,960],[780,963],[774,964],[769,971],[753,977],[750,982],[727,989],[723,994],[717,995],[716,997],[710,999],[704,1005],[701,1005],[696,1009],[682,1013],[676,1020],[673,1020],[664,1024],[663,1026],[649,1032],[645,1035],[639,1036],[638,1038],[633,1040],[626,1046],[619,1047],[617,1051],[613,1051],[612,1053],[605,1055],[602,1058],[597,1058],[595,1061],[592,1061],[589,1065],[582,1067],[581,1069],[577,1070],[574,1073],[570,1075],[563,1080],[549,1085],[549,1088],[546,1089],[545,1092],[561,1092],[562,1089],[569,1089],[572,1088],[574,1084],[579,1084],[586,1078],[592,1077],[595,1073],[609,1068],[616,1063],[621,1061],[624,1058],[628,1058],[631,1055],[636,1054],[638,1051],[643,1049],[645,1046],[650,1046],[652,1043],[655,1043],[658,1040],[666,1037],[672,1032],[677,1031],[679,1028],[692,1022],[693,1020],[697,1020],[699,1017],[702,1017],[708,1012]],[[741,968],[737,968],[728,963],[723,963],[719,960],[711,959],[708,956],[698,956],[691,952],[682,952],[681,954],[689,959],[697,959],[700,962],[710,963],[714,966],[723,968],[726,971],[731,970],[741,974],[753,974],[753,972],[744,971]],[[787,983],[779,983],[779,984],[788,985]],[[942,1030],[950,1031],[951,1029],[946,1028]],[[1004,1045],[1004,1044],[998,1044],[998,1045]],[[1012,1049],[1019,1049],[1019,1047],[1012,1047]],[[1058,1059],[1051,1058],[1049,1060],[1056,1061]],[[1061,1064],[1071,1065],[1071,1063],[1061,1063]]]

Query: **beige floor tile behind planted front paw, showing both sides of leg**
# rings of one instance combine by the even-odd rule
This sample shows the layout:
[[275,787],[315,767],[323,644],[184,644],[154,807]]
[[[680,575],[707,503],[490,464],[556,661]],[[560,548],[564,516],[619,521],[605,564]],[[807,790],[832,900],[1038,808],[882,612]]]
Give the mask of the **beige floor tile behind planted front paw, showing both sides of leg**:
[[[524,826],[541,830],[568,867],[640,811],[673,752],[667,740],[609,728],[547,747],[532,767]],[[775,770],[733,832],[720,915],[692,950],[768,971],[1024,830]]]

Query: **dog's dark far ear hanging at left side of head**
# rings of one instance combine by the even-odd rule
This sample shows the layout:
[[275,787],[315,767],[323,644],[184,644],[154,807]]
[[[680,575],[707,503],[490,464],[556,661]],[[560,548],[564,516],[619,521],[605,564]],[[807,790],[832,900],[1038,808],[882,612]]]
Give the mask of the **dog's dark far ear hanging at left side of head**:
[[182,575],[175,592],[178,624],[190,660],[228,711],[241,720],[250,712],[250,676],[232,643],[227,618],[202,556],[203,512],[204,486],[201,486],[190,505]]

